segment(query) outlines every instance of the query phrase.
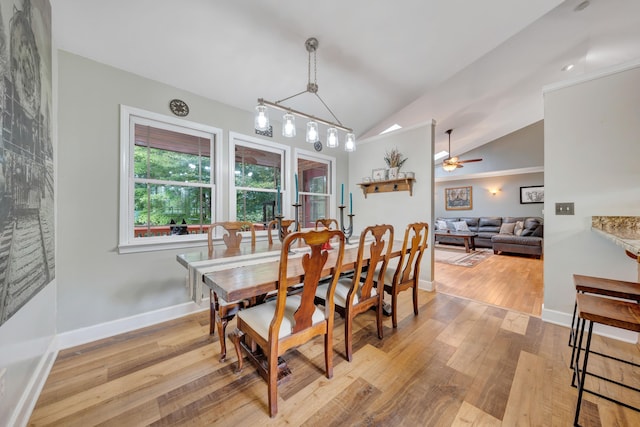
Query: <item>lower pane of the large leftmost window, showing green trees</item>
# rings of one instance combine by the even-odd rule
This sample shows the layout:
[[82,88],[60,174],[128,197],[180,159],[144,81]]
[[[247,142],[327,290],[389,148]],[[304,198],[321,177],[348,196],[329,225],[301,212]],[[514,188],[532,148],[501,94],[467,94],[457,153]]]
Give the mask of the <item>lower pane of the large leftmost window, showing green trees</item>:
[[169,235],[172,220],[179,225],[184,220],[190,234],[206,232],[202,225],[211,223],[211,188],[136,183],[135,237]]

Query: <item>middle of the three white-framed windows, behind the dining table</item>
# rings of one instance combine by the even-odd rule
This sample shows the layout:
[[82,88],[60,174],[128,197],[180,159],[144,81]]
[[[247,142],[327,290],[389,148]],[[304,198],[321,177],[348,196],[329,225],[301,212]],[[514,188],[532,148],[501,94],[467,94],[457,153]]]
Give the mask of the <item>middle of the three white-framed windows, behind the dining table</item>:
[[[231,134],[229,164],[233,165],[230,178],[230,205],[237,221],[250,221],[266,225],[279,210],[289,215],[288,194],[283,183],[288,148],[273,142]],[[278,189],[281,196],[276,199]]]

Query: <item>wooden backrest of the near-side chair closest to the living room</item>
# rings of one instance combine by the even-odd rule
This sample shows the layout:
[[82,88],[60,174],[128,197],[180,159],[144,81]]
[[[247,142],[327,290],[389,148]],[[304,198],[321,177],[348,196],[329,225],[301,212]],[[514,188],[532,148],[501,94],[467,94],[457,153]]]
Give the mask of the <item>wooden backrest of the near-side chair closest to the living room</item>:
[[394,283],[401,284],[418,280],[420,277],[420,260],[427,247],[428,235],[429,224],[426,222],[415,222],[407,225],[402,244],[402,253],[393,276]]

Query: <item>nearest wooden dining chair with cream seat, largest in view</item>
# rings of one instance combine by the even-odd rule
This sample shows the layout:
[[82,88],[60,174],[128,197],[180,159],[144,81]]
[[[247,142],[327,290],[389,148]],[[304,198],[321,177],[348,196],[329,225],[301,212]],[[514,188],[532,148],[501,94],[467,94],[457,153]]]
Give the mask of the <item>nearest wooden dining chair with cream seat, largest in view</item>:
[[[339,242],[335,250],[323,250],[322,246],[334,237]],[[296,240],[308,246],[310,252],[302,257],[292,255],[289,248]],[[231,336],[238,353],[238,372],[243,367],[243,348],[267,381],[271,417],[278,412],[278,358],[287,350],[316,336],[324,336],[325,372],[327,378],[333,376],[333,294],[340,277],[344,242],[344,234],[338,230],[311,230],[287,235],[280,252],[277,298],[238,313],[237,329]],[[314,297],[320,277],[327,272],[333,274],[333,281],[327,288],[327,303],[321,310],[314,304]],[[302,292],[288,295],[288,285],[297,282],[301,276],[304,276]]]

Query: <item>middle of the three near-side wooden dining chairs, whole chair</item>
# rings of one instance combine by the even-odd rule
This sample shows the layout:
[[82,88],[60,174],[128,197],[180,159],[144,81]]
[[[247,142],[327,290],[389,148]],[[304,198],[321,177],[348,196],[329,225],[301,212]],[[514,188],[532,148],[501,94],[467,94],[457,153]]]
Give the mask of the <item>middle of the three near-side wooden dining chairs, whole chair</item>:
[[[376,225],[365,228],[360,233],[358,258],[352,278],[342,277],[338,280],[333,302],[335,309],[344,318],[344,344],[347,360],[353,358],[353,318],[370,308],[376,309],[378,338],[382,339],[382,290],[378,292],[375,283],[383,283],[387,260],[393,247],[393,226]],[[366,255],[366,257],[365,257]],[[368,258],[368,259],[366,259]],[[363,275],[367,266],[376,274]],[[325,304],[328,284],[318,286],[316,303]]]

